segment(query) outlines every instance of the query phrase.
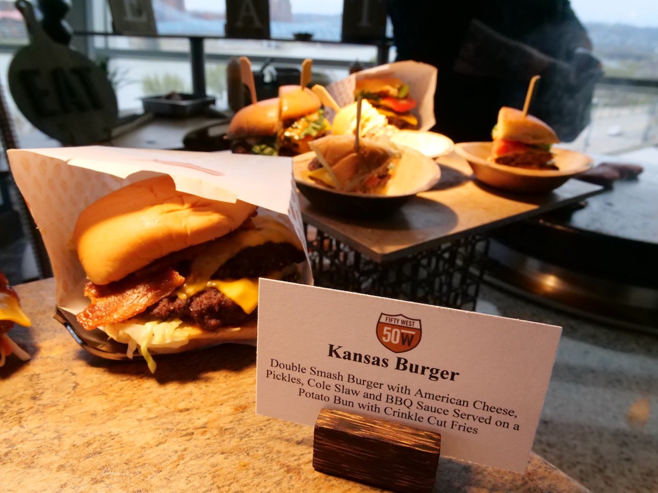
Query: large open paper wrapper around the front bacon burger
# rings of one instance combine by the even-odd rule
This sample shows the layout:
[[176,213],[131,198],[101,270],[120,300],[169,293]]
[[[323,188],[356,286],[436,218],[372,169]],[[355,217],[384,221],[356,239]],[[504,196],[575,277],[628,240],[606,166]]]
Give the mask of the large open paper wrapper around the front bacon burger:
[[[292,178],[291,158],[117,147],[12,149],[9,164],[39,228],[55,276],[57,305],[77,314],[89,303],[86,274],[72,245],[78,215],[108,193],[152,176],[169,175],[176,189],[207,199],[259,206],[305,234]],[[308,260],[304,281],[313,283]]]

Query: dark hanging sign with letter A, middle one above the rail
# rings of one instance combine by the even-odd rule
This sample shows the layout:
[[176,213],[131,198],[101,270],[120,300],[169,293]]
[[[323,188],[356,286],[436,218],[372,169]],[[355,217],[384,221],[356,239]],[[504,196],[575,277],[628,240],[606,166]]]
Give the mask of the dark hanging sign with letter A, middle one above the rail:
[[269,39],[268,0],[226,0],[226,37]]

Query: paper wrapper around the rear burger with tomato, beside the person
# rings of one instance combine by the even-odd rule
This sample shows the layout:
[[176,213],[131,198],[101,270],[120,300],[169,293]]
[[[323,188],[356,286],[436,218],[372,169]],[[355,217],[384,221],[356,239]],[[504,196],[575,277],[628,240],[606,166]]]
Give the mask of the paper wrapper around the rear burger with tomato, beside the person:
[[[339,106],[354,102],[354,88],[357,79],[371,77],[397,77],[409,84],[409,94],[418,103],[411,112],[418,117],[418,129],[426,131],[434,126],[434,91],[436,91],[437,70],[435,66],[413,62],[393,62],[355,72],[347,78],[333,82],[326,87]],[[329,120],[334,119],[334,111],[327,108]]]

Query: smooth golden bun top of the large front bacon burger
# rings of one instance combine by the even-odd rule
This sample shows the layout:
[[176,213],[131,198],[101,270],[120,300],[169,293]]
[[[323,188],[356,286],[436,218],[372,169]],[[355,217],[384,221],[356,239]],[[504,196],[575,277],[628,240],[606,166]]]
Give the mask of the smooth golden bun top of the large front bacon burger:
[[177,191],[169,176],[132,183],[93,202],[76,222],[73,241],[89,280],[118,281],[157,260],[238,228],[256,206]]

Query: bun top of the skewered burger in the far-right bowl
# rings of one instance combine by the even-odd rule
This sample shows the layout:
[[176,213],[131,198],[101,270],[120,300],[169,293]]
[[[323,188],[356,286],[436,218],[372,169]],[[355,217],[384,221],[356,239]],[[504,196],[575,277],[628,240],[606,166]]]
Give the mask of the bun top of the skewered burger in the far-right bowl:
[[503,106],[498,112],[498,122],[492,130],[493,139],[505,139],[525,144],[557,144],[560,139],[555,131],[539,118],[524,116],[521,110]]

